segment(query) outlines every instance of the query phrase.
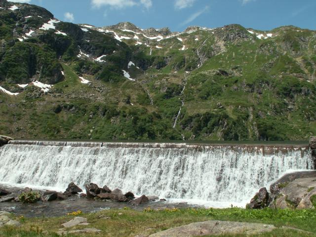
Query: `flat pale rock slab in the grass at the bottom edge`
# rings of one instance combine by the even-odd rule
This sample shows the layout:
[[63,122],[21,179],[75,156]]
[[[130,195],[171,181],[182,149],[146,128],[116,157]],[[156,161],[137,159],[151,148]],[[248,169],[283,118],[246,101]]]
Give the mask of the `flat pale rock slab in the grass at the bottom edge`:
[[273,225],[231,221],[205,221],[172,228],[150,237],[193,237],[208,235],[258,235],[276,229]]

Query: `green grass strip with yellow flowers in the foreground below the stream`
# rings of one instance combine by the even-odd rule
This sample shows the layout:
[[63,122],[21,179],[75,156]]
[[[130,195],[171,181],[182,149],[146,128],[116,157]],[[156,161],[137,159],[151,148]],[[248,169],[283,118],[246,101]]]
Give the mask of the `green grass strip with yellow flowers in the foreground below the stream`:
[[[149,236],[151,234],[167,230],[170,228],[186,225],[192,222],[207,220],[223,220],[237,222],[256,222],[273,224],[276,227],[287,226],[297,228],[312,233],[316,233],[316,210],[248,210],[241,208],[227,209],[160,209],[153,210],[146,208],[144,211],[136,211],[129,208],[111,209],[90,214],[79,214],[85,217],[90,225],[77,226],[69,230],[97,228],[102,232],[100,237],[129,237],[129,236]],[[103,219],[110,217],[110,219]],[[55,218],[17,218],[23,220],[19,229],[5,227],[0,229],[1,237],[55,237],[61,224],[73,219],[73,216],[63,216]],[[76,236],[76,235],[69,235]],[[84,236],[94,236],[85,234]],[[233,235],[222,235],[230,237]],[[237,235],[243,237],[244,235]],[[305,237],[316,236],[316,234],[305,235],[295,230],[277,229],[266,236],[277,237]]]

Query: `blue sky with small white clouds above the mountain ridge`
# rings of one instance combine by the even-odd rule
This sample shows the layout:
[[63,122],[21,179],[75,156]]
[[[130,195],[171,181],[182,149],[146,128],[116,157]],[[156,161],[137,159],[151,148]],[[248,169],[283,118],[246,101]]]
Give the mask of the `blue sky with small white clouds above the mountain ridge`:
[[316,30],[316,0],[14,0],[45,7],[56,18],[95,26],[129,21],[140,28],[183,31],[237,23],[271,30],[295,25]]

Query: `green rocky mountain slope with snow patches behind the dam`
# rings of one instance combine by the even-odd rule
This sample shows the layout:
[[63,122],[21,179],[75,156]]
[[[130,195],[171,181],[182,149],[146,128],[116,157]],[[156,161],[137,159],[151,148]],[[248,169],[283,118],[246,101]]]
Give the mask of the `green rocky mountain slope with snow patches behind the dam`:
[[0,0],[0,133],[24,138],[304,140],[316,32],[142,30]]

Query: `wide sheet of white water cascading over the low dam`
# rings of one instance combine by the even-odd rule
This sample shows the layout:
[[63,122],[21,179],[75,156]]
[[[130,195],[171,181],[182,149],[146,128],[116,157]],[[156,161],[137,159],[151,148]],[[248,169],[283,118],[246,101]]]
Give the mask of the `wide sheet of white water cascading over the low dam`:
[[11,141],[0,181],[64,190],[74,181],[135,194],[246,202],[288,170],[313,169],[308,147]]

